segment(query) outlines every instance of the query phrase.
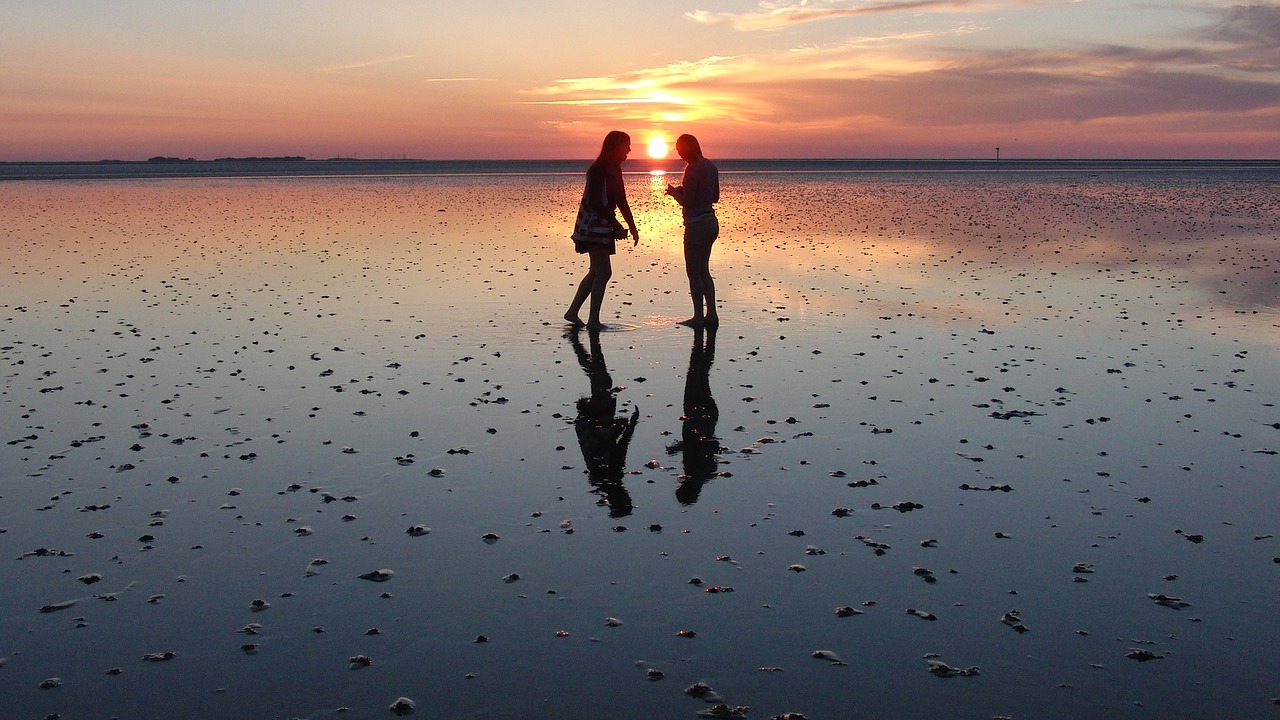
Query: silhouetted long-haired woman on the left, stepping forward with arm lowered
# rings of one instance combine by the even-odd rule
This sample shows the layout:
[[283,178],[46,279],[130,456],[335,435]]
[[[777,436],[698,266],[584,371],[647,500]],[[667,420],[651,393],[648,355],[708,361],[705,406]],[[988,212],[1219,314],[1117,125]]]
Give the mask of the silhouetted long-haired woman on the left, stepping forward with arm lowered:
[[[627,236],[626,231],[622,229],[622,224],[618,223],[613,213],[614,210],[622,211],[622,219],[627,222],[627,227],[631,229],[631,236],[635,238],[631,246],[635,247],[640,242],[640,231],[636,229],[636,222],[631,217],[631,206],[627,204],[627,191],[622,183],[622,161],[627,159],[628,152],[631,152],[631,136],[622,131],[613,131],[604,136],[600,155],[586,170],[586,188],[582,191],[582,204],[579,209],[579,215],[582,217],[590,211],[590,214],[598,218],[604,218],[614,227],[614,232],[611,233],[612,237],[596,241],[588,236],[580,236],[575,231],[575,249],[591,258],[586,277],[579,282],[573,301],[570,302],[568,311],[564,313],[564,319],[575,327],[586,325],[593,329],[604,327],[600,323],[600,305],[604,304],[604,288],[609,284],[609,278],[613,275],[609,255],[617,251],[614,238],[625,238]],[[584,323],[577,313],[582,309],[582,304],[586,302],[588,297],[591,299],[591,309],[588,320]]]

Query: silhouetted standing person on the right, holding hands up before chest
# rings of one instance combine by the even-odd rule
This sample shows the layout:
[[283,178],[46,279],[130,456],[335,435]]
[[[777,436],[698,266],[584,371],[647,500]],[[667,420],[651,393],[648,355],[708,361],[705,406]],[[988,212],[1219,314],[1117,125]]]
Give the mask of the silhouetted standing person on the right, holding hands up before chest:
[[685,218],[685,273],[689,275],[689,295],[694,300],[694,316],[685,325],[714,325],[716,282],[712,281],[712,243],[719,237],[716,208],[719,201],[719,170],[703,156],[698,138],[682,135],[676,138],[676,152],[687,163],[680,186],[668,184],[667,195],[680,202]]

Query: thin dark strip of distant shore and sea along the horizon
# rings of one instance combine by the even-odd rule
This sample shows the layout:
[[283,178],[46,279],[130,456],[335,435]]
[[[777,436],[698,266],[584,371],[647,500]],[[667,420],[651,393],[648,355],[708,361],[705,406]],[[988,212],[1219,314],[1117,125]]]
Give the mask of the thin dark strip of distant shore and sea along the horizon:
[[[148,160],[0,161],[0,181],[180,179],[289,177],[413,177],[474,174],[581,174],[589,159],[576,160],[308,160],[280,158],[151,158]],[[724,173],[946,173],[946,172],[1187,172],[1238,170],[1280,173],[1280,160],[1235,159],[716,159]],[[678,173],[678,158],[634,158],[628,173]]]

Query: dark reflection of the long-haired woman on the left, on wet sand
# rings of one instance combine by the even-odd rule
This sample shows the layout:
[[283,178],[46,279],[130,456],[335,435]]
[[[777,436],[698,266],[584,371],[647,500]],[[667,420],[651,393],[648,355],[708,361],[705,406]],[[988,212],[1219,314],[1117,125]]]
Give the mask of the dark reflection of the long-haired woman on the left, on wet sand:
[[577,416],[573,419],[577,445],[582,450],[589,482],[604,493],[609,503],[609,516],[623,518],[631,514],[631,496],[622,484],[622,475],[626,473],[627,446],[640,421],[640,409],[635,407],[630,418],[617,415],[618,401],[613,395],[613,379],[604,365],[600,334],[591,333],[590,354],[577,334],[571,332],[568,337],[579,364],[591,380],[591,395],[577,401]]

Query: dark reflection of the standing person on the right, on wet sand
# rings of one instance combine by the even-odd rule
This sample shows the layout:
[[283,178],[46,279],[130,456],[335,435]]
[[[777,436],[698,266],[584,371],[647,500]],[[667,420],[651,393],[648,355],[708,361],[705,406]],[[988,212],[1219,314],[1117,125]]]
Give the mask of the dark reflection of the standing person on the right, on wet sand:
[[716,360],[716,328],[694,328],[694,347],[689,352],[689,373],[685,375],[685,416],[681,439],[667,446],[668,454],[680,452],[685,471],[676,488],[681,505],[698,502],[703,484],[719,471],[719,438],[716,423],[719,407],[712,397],[710,370]]

